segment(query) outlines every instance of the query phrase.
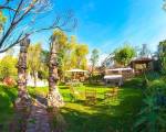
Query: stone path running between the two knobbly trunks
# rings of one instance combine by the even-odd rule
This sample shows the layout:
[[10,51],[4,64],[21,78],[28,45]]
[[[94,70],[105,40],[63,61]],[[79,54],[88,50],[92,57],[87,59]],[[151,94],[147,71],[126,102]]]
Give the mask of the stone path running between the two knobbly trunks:
[[38,100],[31,108],[25,132],[51,132],[46,108]]

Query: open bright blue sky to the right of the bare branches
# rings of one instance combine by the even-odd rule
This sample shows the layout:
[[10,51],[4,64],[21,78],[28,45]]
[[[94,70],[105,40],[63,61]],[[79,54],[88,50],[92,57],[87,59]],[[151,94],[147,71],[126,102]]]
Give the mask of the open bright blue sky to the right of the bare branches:
[[[55,0],[54,11],[72,9],[77,18],[76,30],[69,34],[108,54],[124,43],[134,46],[148,44],[155,51],[166,38],[166,12],[163,0]],[[52,13],[48,16],[53,18]],[[48,21],[46,19],[45,21]],[[33,37],[46,43],[46,34]]]

